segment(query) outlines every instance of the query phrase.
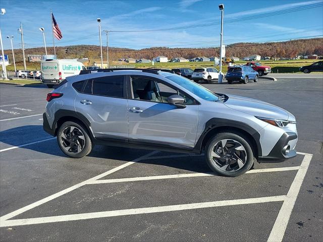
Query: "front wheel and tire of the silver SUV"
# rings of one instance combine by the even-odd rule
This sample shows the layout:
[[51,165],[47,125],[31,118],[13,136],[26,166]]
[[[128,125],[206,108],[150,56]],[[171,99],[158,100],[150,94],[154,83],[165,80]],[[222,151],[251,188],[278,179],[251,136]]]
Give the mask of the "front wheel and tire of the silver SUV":
[[[222,149],[223,144],[226,151]],[[250,144],[250,140],[243,134],[219,133],[206,143],[206,163],[218,174],[231,177],[242,175],[250,170],[254,162]],[[239,149],[234,149],[234,146]]]

